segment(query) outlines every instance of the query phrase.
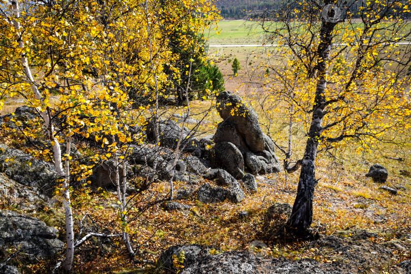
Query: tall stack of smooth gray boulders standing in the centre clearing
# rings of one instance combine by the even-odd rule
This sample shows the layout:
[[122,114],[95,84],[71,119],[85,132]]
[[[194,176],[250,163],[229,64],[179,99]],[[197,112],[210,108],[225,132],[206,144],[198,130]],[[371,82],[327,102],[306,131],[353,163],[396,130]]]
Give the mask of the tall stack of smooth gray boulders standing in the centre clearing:
[[238,95],[222,92],[217,110],[224,121],[213,137],[215,166],[223,166],[236,179],[243,178],[245,167],[254,175],[280,172],[275,145],[262,132],[253,108]]

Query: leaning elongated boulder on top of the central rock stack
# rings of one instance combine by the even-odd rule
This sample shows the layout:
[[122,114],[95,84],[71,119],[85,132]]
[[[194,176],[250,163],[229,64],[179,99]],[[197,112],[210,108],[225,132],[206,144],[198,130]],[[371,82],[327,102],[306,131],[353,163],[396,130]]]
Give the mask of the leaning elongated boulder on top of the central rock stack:
[[264,150],[264,136],[258,116],[241,97],[232,92],[221,92],[217,96],[217,110],[224,121],[228,120],[234,124],[251,151]]

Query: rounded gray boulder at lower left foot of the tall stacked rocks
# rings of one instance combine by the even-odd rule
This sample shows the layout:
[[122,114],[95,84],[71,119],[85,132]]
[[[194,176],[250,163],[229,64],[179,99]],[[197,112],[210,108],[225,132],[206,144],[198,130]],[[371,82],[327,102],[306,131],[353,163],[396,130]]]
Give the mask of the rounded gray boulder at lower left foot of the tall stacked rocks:
[[216,160],[236,179],[244,176],[244,159],[236,146],[229,142],[217,143],[214,146]]

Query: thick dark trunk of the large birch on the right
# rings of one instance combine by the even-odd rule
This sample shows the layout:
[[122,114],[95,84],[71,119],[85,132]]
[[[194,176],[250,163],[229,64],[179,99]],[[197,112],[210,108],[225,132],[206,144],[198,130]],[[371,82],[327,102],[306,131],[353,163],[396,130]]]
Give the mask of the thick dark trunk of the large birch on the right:
[[[324,1],[325,5],[332,1]],[[313,117],[309,131],[309,139],[305,146],[305,152],[301,164],[301,173],[298,181],[297,196],[294,201],[293,211],[287,225],[305,231],[313,221],[313,198],[314,189],[317,185],[315,177],[315,160],[317,155],[318,140],[322,131],[324,117],[325,88],[327,86],[327,63],[330,55],[332,42],[331,32],[336,23],[327,22],[324,18],[321,22],[321,42],[318,46],[318,74],[319,79],[316,87],[316,96],[313,106]]]

